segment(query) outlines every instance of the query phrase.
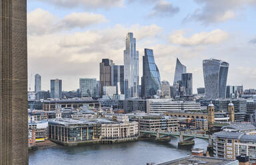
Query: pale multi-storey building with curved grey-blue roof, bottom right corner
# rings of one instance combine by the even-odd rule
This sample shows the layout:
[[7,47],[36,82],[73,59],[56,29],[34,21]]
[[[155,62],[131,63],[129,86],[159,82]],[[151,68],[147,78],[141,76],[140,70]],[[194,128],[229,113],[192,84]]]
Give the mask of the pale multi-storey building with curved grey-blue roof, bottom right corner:
[[236,156],[249,156],[249,162],[256,163],[255,126],[236,123],[221,129],[213,134],[215,157],[235,160]]

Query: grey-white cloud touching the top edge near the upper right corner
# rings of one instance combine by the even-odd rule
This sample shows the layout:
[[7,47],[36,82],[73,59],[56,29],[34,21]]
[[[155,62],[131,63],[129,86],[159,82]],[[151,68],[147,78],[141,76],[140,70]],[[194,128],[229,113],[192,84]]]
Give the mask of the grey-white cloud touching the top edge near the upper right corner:
[[233,19],[245,5],[256,5],[256,0],[194,0],[201,9],[187,15],[183,21],[201,21],[204,25]]

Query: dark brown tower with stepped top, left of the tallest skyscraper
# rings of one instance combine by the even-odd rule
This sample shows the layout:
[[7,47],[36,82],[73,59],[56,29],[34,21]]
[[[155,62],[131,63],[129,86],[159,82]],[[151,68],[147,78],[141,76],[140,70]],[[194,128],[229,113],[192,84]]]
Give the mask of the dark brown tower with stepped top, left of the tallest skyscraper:
[[102,62],[99,63],[99,81],[101,82],[100,96],[103,95],[103,86],[112,85],[112,67],[113,61],[111,59],[102,59]]

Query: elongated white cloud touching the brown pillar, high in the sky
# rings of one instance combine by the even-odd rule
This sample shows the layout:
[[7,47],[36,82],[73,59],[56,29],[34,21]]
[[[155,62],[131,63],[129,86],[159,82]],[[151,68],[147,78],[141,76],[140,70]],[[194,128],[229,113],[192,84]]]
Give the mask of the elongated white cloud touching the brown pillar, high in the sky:
[[49,11],[35,9],[28,14],[28,29],[31,35],[42,35],[73,29],[76,27],[85,28],[107,21],[103,15],[95,13],[71,13],[63,19],[52,15]]

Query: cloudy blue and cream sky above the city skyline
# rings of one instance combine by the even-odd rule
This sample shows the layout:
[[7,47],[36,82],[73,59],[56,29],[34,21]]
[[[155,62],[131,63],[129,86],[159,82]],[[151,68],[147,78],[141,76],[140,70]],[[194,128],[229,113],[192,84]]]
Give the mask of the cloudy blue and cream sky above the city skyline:
[[[79,78],[99,79],[103,58],[123,65],[125,36],[139,50],[153,49],[161,79],[173,83],[176,58],[203,85],[203,59],[230,65],[227,84],[256,88],[256,0],[28,0],[29,86],[42,76],[62,79],[63,90]],[[31,78],[32,75],[32,78]]]

